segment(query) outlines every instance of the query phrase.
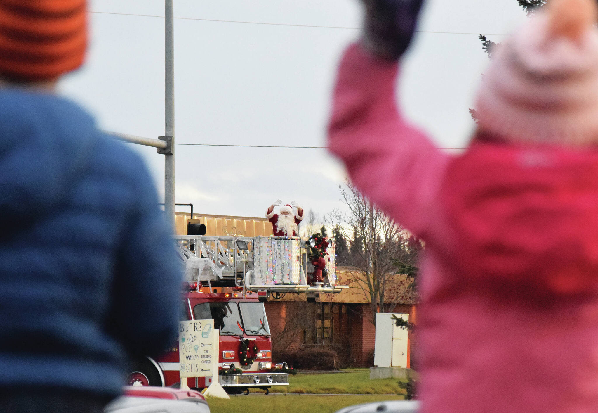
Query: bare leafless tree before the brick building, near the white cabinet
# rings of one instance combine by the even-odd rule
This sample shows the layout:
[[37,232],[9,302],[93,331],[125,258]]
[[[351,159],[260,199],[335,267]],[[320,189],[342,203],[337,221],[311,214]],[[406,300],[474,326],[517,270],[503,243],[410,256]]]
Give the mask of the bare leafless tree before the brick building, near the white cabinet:
[[[370,302],[368,318],[376,324],[377,312],[393,312],[398,303],[414,302],[413,278],[401,274],[398,263],[413,255],[410,236],[376,205],[361,195],[352,183],[339,186],[348,212],[335,209],[327,216],[328,226],[349,239],[350,280]],[[370,317],[371,316],[371,317]]]

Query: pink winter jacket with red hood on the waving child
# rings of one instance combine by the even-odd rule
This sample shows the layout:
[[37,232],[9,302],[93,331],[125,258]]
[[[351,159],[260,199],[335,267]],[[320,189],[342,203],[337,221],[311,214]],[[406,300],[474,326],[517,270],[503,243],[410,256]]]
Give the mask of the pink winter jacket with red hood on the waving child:
[[426,241],[422,413],[597,413],[598,151],[480,135],[449,156],[402,119],[396,72],[346,51],[329,148]]

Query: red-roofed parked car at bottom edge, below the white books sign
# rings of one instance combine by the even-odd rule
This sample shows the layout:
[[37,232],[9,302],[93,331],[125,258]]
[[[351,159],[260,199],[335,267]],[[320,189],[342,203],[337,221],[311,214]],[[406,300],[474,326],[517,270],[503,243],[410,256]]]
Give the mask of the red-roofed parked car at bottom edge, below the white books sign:
[[202,393],[170,387],[132,387],[106,406],[105,413],[210,413]]

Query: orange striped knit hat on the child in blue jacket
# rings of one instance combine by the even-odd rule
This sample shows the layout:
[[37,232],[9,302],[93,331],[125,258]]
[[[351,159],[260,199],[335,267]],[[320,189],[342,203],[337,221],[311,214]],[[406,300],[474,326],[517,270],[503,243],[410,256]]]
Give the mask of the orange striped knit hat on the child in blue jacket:
[[85,0],[0,0],[0,77],[55,80],[87,48]]

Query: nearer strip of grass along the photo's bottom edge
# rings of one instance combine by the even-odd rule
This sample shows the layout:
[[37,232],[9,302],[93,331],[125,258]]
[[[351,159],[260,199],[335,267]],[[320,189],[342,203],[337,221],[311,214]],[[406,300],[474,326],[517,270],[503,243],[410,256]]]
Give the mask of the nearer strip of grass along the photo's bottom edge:
[[[349,373],[347,373],[349,374]],[[402,400],[402,396],[311,396],[269,394],[231,396],[230,400],[208,398],[211,413],[333,413],[359,403]]]

